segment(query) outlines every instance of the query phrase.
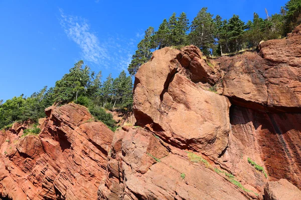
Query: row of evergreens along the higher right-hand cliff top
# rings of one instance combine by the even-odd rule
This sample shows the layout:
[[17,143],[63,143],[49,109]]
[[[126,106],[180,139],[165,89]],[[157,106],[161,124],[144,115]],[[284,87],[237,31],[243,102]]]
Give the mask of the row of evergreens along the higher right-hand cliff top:
[[301,0],[289,0],[280,13],[259,17],[247,23],[234,14],[229,20],[220,15],[214,17],[203,7],[189,23],[185,12],[174,12],[164,19],[157,31],[150,26],[138,43],[128,72],[135,74],[138,68],[152,57],[152,51],[166,46],[194,44],[207,56],[220,56],[257,46],[261,40],[281,38],[301,22]]

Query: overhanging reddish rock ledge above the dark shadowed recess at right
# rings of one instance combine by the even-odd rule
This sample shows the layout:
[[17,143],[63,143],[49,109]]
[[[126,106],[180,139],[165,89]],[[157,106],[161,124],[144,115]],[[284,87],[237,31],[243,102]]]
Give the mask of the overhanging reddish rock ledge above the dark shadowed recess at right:
[[217,59],[225,73],[222,94],[245,107],[301,112],[300,27],[287,38],[261,43],[259,53]]

